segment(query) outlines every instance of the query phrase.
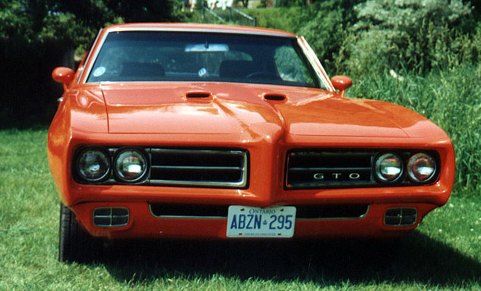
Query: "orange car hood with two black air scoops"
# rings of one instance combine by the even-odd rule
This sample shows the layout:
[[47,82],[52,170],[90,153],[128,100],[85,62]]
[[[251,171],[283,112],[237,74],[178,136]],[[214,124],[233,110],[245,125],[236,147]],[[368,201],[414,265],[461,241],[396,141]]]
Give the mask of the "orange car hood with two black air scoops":
[[405,110],[399,106],[320,89],[170,83],[103,85],[102,92],[110,133],[252,135],[270,126],[291,135],[401,138],[408,136],[403,128],[423,120],[396,117]]

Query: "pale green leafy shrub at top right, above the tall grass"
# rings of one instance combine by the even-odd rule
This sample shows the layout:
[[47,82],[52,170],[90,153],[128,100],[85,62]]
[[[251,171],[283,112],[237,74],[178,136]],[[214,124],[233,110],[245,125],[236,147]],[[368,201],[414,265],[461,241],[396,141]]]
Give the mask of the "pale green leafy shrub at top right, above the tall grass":
[[358,21],[342,55],[354,75],[389,69],[426,73],[479,61],[471,8],[459,0],[369,0],[354,10]]

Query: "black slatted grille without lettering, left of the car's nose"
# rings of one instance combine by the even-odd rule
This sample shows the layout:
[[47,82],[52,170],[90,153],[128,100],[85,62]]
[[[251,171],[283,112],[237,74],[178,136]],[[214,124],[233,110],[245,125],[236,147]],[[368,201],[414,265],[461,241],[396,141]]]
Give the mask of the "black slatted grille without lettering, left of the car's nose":
[[149,184],[246,188],[247,152],[152,148]]

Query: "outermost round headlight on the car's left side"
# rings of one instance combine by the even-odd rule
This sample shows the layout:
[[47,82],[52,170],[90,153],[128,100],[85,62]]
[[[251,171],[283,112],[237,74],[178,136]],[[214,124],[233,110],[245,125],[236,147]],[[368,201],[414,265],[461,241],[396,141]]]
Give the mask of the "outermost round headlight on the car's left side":
[[86,149],[78,156],[76,168],[81,179],[99,182],[110,172],[110,157],[101,149]]

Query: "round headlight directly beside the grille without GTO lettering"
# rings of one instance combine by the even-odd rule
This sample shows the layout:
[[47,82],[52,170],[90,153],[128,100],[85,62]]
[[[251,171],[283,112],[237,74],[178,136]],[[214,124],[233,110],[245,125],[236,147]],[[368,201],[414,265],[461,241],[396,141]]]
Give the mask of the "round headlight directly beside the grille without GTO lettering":
[[147,158],[139,150],[122,150],[115,158],[115,174],[123,182],[138,182],[145,177],[147,166]]

